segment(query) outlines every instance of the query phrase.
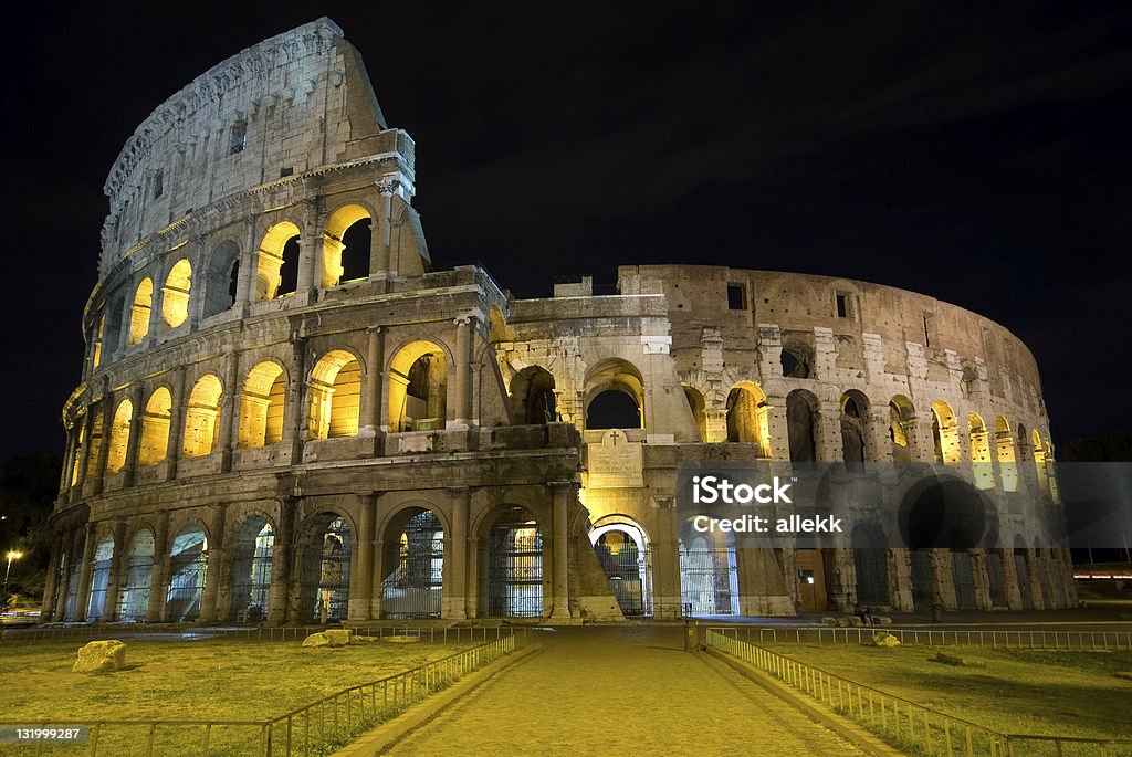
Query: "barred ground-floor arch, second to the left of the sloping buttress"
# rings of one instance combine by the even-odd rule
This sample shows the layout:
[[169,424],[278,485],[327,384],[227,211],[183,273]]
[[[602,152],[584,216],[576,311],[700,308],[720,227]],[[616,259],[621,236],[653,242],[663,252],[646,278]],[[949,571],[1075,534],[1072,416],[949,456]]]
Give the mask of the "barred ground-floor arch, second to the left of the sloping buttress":
[[444,526],[422,507],[389,523],[381,554],[381,617],[439,618],[444,591]]

